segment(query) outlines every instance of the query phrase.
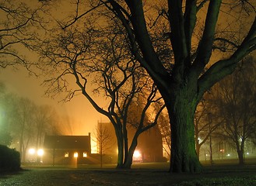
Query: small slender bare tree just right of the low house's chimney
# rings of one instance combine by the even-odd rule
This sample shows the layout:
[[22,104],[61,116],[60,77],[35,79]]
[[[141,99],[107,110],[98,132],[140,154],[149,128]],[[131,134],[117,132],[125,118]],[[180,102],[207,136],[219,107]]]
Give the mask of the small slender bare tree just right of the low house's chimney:
[[111,133],[107,130],[107,126],[104,126],[102,122],[98,122],[95,129],[95,139],[97,144],[98,153],[100,153],[100,167],[103,165],[103,155],[113,146]]

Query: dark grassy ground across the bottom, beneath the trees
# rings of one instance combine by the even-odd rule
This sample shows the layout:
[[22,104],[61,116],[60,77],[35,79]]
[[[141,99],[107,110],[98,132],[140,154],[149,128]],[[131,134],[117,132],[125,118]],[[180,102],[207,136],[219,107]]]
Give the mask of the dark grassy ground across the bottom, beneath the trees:
[[256,164],[205,166],[202,174],[170,174],[168,164],[139,164],[132,170],[111,167],[23,167],[16,174],[0,175],[0,185],[256,185]]

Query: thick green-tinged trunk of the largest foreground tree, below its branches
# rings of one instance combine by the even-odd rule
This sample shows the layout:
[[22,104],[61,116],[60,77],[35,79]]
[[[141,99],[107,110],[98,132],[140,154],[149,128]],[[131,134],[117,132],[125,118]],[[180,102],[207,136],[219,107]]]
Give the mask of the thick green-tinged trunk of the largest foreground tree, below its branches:
[[169,99],[165,100],[171,125],[170,172],[194,173],[202,170],[195,151],[194,117],[198,99],[195,91],[188,87],[172,91]]

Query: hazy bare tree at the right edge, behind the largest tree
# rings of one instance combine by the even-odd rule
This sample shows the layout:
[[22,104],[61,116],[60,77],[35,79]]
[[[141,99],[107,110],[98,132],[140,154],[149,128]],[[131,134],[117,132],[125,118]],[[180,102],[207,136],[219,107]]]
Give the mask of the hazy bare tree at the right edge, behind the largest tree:
[[221,136],[230,139],[237,149],[239,164],[244,164],[244,146],[256,128],[256,67],[247,58],[237,71],[216,84],[215,103],[224,127]]

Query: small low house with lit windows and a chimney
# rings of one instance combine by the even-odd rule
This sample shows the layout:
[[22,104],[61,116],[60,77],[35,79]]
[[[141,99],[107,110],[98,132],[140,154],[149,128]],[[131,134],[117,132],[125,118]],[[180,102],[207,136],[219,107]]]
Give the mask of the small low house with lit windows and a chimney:
[[44,136],[44,164],[91,164],[91,137]]

